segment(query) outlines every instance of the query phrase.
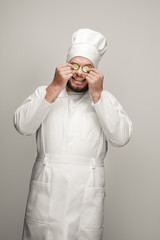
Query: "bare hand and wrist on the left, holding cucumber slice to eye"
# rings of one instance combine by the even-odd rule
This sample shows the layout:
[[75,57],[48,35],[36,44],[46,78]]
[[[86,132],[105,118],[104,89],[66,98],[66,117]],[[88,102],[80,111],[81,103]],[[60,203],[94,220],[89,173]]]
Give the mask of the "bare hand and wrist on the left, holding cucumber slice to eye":
[[66,87],[68,80],[73,76],[74,66],[70,63],[65,63],[56,67],[54,79],[46,88],[45,99],[52,103],[56,100],[60,92]]

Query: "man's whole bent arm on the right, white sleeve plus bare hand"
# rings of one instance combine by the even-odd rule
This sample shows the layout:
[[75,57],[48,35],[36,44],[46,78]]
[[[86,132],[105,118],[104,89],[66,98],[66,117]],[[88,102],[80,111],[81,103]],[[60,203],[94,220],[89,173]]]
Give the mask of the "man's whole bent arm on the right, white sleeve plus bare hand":
[[120,147],[128,143],[133,126],[118,100],[110,92],[103,90],[103,79],[104,75],[98,69],[88,70],[86,80],[92,96],[92,105],[103,132],[113,146]]

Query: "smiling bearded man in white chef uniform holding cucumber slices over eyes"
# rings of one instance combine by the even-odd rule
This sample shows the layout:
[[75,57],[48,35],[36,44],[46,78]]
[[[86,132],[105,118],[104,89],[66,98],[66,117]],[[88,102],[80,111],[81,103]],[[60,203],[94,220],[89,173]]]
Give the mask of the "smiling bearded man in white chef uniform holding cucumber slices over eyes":
[[98,64],[107,48],[99,32],[72,35],[66,63],[14,113],[14,126],[36,134],[23,240],[102,240],[108,145],[126,145],[132,122],[103,89]]

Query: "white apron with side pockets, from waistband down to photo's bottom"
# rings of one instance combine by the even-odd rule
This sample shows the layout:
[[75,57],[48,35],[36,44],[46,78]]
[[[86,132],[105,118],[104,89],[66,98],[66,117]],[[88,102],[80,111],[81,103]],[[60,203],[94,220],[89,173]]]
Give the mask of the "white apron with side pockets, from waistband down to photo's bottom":
[[104,196],[102,159],[38,155],[23,239],[102,239]]

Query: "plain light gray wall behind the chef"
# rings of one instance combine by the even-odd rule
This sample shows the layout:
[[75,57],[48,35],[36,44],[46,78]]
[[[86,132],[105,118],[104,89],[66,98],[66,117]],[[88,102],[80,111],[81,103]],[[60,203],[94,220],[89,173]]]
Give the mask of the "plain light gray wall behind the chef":
[[0,1],[0,239],[21,239],[36,153],[35,135],[20,135],[13,113],[50,84],[78,28],[106,36],[104,89],[134,126],[131,141],[109,146],[105,159],[104,240],[160,239],[159,9],[158,0]]

